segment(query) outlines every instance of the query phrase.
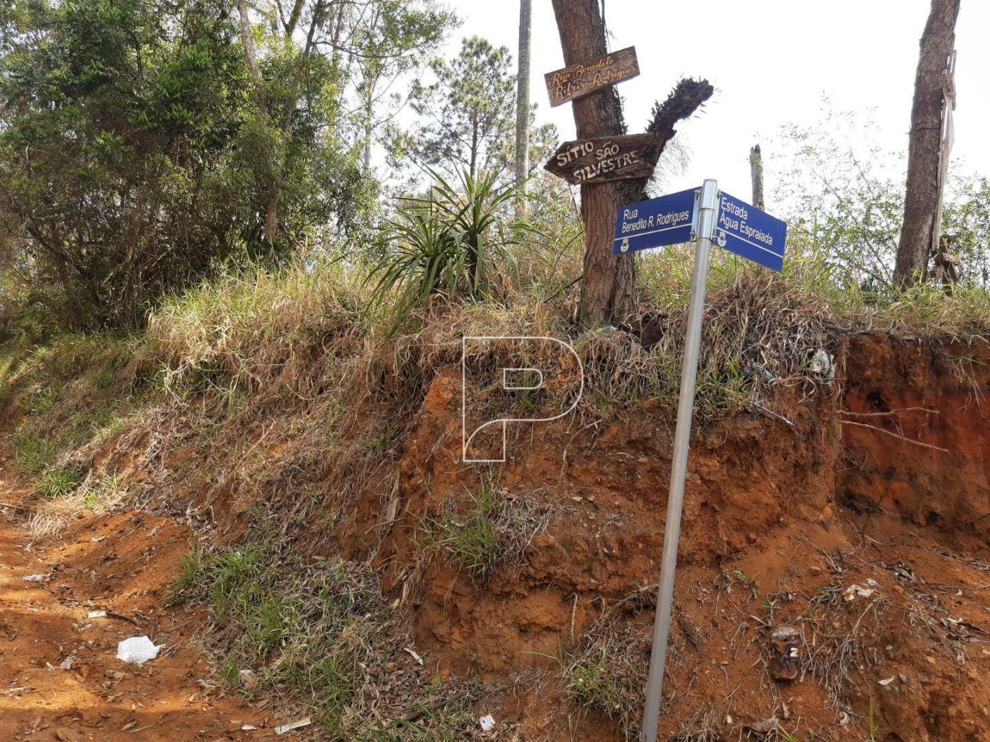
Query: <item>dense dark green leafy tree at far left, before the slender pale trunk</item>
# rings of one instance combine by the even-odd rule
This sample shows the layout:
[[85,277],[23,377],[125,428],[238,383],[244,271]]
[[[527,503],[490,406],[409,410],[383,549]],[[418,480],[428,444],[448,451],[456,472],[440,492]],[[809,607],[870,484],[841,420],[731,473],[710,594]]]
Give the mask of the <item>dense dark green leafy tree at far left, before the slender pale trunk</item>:
[[[212,0],[15,2],[0,66],[2,229],[58,324],[128,325],[224,256],[211,164],[242,65]],[[34,262],[32,262],[32,256]]]

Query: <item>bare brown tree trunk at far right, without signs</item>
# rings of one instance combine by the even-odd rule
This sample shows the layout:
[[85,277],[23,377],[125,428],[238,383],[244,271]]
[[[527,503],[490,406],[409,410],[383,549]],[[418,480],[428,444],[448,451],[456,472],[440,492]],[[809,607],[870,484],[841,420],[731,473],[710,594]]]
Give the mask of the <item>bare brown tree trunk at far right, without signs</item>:
[[933,232],[939,201],[942,72],[955,45],[958,15],[959,0],[932,0],[922,34],[911,108],[904,224],[894,267],[894,279],[901,284],[924,279],[929,253],[939,238]]

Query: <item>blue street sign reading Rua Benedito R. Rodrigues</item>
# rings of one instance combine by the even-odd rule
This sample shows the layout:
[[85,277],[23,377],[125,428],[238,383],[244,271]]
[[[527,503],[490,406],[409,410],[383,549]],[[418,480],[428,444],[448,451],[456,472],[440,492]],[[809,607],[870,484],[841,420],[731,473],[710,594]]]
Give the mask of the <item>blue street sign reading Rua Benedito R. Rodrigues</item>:
[[649,247],[691,241],[698,210],[691,188],[658,199],[619,207],[612,252],[621,255]]

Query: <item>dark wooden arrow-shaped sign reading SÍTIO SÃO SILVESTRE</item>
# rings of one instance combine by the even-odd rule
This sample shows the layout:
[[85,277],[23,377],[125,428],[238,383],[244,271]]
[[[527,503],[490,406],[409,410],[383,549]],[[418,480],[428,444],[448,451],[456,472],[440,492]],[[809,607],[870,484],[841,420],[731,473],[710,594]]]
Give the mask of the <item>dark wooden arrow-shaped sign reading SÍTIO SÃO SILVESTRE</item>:
[[586,185],[648,178],[659,156],[659,139],[653,134],[595,137],[565,141],[545,168],[568,183]]

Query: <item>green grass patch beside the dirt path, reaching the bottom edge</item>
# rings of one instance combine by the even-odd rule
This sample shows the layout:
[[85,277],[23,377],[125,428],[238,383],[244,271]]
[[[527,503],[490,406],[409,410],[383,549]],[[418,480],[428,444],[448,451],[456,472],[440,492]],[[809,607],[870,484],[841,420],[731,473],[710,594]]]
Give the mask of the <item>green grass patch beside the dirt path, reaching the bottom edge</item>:
[[[261,542],[217,552],[194,547],[180,559],[170,599],[209,606],[207,637],[228,683],[246,696],[308,699],[332,739],[452,741],[477,723],[478,681],[393,688],[396,665],[410,662],[403,648],[413,642],[367,564],[306,563]],[[245,669],[257,681],[250,689]]]

